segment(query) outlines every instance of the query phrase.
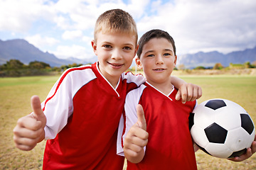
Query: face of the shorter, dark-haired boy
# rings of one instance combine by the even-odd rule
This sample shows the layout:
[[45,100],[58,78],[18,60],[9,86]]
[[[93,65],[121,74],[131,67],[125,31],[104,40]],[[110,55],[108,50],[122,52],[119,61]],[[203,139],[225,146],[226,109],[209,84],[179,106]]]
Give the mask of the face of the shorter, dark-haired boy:
[[146,81],[156,85],[170,84],[176,60],[171,42],[166,38],[152,38],[146,42],[142,48],[142,55],[136,62],[139,68],[143,69]]

